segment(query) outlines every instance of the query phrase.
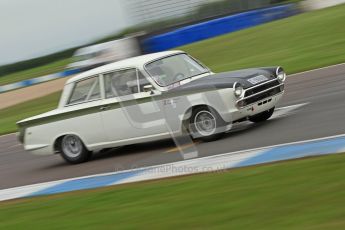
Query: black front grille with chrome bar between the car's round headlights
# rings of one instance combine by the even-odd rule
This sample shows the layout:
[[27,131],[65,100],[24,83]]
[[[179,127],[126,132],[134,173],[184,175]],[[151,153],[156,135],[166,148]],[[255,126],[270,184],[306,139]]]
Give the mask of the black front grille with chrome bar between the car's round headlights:
[[284,90],[284,84],[278,80],[271,80],[266,83],[253,86],[245,90],[244,98],[237,101],[239,107],[245,107],[247,105],[264,100],[265,98],[272,97],[281,93]]

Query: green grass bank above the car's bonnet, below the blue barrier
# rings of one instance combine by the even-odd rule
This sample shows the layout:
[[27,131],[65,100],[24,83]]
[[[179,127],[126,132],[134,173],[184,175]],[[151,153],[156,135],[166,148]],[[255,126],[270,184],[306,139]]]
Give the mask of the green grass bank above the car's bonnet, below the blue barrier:
[[288,73],[345,62],[345,4],[179,47],[216,72],[283,66]]

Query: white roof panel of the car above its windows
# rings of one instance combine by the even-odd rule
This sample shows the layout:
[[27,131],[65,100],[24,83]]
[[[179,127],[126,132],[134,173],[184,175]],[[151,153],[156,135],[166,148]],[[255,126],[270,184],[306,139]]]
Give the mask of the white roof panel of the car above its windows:
[[97,67],[95,69],[88,70],[86,72],[83,72],[81,74],[78,74],[72,78],[70,78],[66,84],[70,84],[75,81],[82,80],[84,78],[97,75],[100,73],[116,70],[116,69],[124,69],[124,68],[131,68],[136,67],[141,69],[142,66],[144,66],[146,63],[153,61],[155,59],[163,58],[166,56],[174,55],[184,53],[180,50],[174,50],[174,51],[164,51],[164,52],[158,52],[158,53],[152,53],[152,54],[145,54],[137,57],[127,58],[121,61],[113,62],[104,66]]

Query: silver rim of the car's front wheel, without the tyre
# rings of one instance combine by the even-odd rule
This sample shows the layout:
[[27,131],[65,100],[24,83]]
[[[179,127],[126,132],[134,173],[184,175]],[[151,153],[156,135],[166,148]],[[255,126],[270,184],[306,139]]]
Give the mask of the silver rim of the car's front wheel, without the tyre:
[[194,117],[194,127],[200,135],[210,136],[216,132],[217,121],[211,112],[202,110]]

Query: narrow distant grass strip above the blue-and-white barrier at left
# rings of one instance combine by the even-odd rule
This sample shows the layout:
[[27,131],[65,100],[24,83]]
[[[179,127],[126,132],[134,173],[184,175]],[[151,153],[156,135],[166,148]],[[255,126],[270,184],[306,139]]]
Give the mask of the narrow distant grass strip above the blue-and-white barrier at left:
[[35,77],[41,77],[41,76],[51,74],[51,73],[60,72],[64,70],[65,66],[69,64],[69,62],[70,62],[70,58],[67,58],[67,59],[56,61],[44,66],[39,66],[39,67],[32,68],[29,70],[23,70],[20,72],[1,76],[0,86],[35,78]]

